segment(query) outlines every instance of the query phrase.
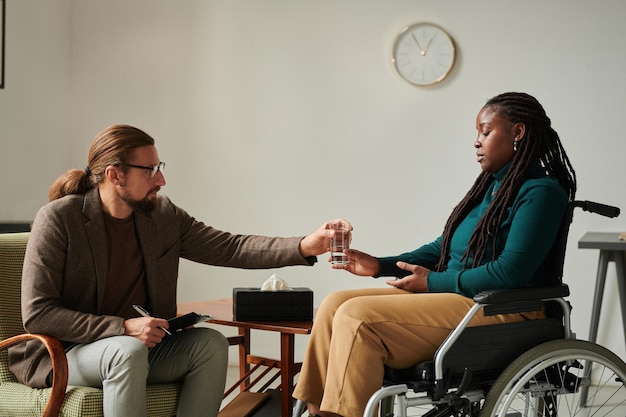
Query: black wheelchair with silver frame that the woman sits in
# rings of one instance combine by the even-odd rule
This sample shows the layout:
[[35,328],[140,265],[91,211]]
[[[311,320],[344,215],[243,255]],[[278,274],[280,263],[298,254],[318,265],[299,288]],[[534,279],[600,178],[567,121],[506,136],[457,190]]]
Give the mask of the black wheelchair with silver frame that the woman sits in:
[[[626,415],[626,364],[602,346],[577,340],[571,330],[569,288],[562,276],[576,208],[606,217],[620,214],[617,207],[591,201],[570,203],[539,271],[546,286],[477,294],[433,360],[407,369],[385,366],[382,388],[370,397],[364,417]],[[541,309],[545,319],[468,327],[481,312]],[[303,408],[296,403],[293,415]]]

